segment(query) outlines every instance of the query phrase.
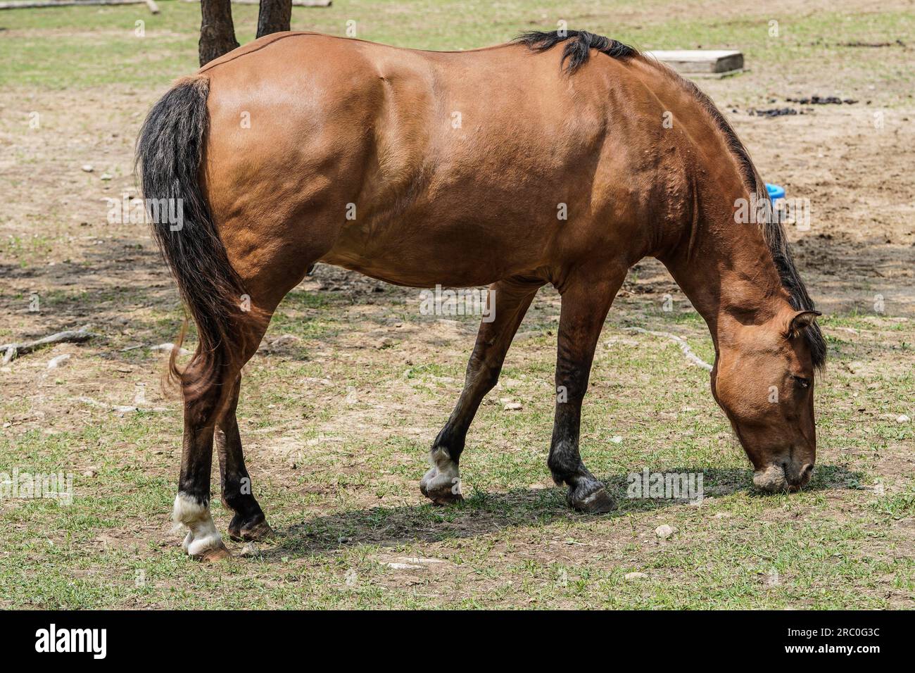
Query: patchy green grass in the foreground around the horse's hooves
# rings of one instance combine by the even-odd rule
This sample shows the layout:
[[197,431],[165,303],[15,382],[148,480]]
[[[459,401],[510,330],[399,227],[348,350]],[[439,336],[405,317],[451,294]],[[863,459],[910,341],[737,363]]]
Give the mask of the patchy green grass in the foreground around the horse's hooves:
[[[415,301],[398,296],[407,309]],[[374,307],[347,309],[334,295],[296,292],[281,313],[315,311],[303,321],[320,329],[298,332],[296,357],[253,360],[239,412],[255,493],[281,537],[258,556],[219,569],[188,561],[178,537],[167,533],[178,407],[123,417],[74,408],[66,403],[69,377],[61,374],[64,389],[46,394],[42,408],[53,415],[69,406],[73,418],[5,432],[0,472],[13,466],[73,472],[75,502],[0,505],[2,602],[45,608],[825,609],[881,608],[911,596],[915,561],[898,526],[915,515],[915,482],[903,476],[889,480],[883,494],[873,488],[877,461],[911,445],[911,426],[892,419],[856,422],[858,407],[884,409],[906,399],[910,370],[878,374],[872,381],[879,388],[865,388],[852,400],[845,384],[853,377],[841,364],[831,365],[830,385],[818,396],[821,464],[811,487],[762,496],[749,485],[746,459],[708,394],[707,374],[686,364],[675,345],[633,337],[614,323],[679,331],[700,352],[703,328],[684,320],[671,325],[647,307],[620,306],[597,353],[582,428],[584,458],[616,492],[619,511],[579,516],[549,487],[545,469],[554,357],[545,326],[555,312],[553,297],[544,292],[522,326],[536,331],[544,325],[543,335],[515,344],[503,385],[490,395],[521,399],[524,408],[509,413],[501,403],[484,403],[462,461],[468,500],[443,509],[425,505],[415,483],[426,447],[457,397],[465,355],[423,361],[411,355],[414,364],[404,364],[398,349],[415,345],[428,329],[418,313],[407,327],[419,331],[404,341],[354,351],[340,341],[339,323],[371,329],[365,320],[377,320]],[[383,315],[403,316],[397,304]],[[827,332],[831,320],[856,324],[853,316],[836,317],[825,321]],[[331,332],[338,336],[328,339]],[[471,338],[452,340],[449,352],[468,348]],[[613,341],[630,338],[635,345]],[[892,356],[880,344],[860,347],[867,353],[855,356],[872,362]],[[327,356],[316,357],[318,350]],[[89,364],[103,369],[102,357],[90,356]],[[156,372],[157,356],[137,357],[150,373],[143,375]],[[108,387],[102,398],[129,403],[132,382]],[[344,401],[352,391],[355,401]],[[410,410],[371,412],[381,404]],[[8,400],[0,411],[3,418],[24,413]],[[414,425],[422,431],[405,430]],[[618,435],[622,441],[612,442]],[[291,444],[292,452],[277,457],[265,440]],[[296,461],[296,469],[287,460]],[[82,476],[89,466],[95,474]],[[626,475],[646,466],[703,472],[704,503],[627,499]],[[225,526],[229,515],[214,503],[214,516]],[[653,531],[661,523],[678,532],[659,540]],[[444,563],[408,572],[385,565],[400,557]],[[648,580],[633,585],[624,579],[636,570]]]

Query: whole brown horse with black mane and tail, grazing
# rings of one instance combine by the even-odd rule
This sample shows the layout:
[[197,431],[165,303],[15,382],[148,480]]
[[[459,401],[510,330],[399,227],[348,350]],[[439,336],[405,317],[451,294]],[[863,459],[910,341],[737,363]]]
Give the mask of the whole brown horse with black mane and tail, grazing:
[[176,82],[145,120],[137,163],[147,208],[183,205],[179,225],[148,210],[198,329],[187,366],[177,349],[170,364],[185,400],[173,517],[191,556],[229,555],[210,516],[214,442],[230,536],[272,533],[235,418],[241,371],[316,262],[417,288],[490,286],[494,317],[420,483],[435,503],[461,498],[470,423],[551,283],[564,395],[548,466],[572,507],[614,506],[578,452],[581,404],[610,304],[645,256],[708,324],[712,394],[754,483],[810,480],[825,345],[765,185],[694,84],[616,40],[530,33],[436,52],[274,34]]

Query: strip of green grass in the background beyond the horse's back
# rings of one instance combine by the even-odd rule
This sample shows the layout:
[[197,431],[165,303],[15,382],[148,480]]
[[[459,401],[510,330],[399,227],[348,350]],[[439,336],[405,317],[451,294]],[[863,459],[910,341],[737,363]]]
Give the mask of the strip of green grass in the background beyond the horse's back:
[[[620,20],[645,2],[613,0],[542,2],[535,8],[521,0],[492,5],[480,0],[369,2],[337,0],[329,8],[295,7],[293,29],[344,35],[356,21],[360,38],[415,49],[473,49],[514,38],[522,30],[587,28],[629,42],[640,49],[737,48],[751,69],[800,75],[828,58],[845,72],[851,89],[878,81],[881,88],[910,87],[913,73],[885,49],[843,46],[854,41],[892,41],[915,29],[915,13],[791,12],[776,17],[779,36],[770,36],[773,18],[764,7],[728,19],[671,17],[661,0],[649,5],[638,22]],[[61,7],[13,10],[0,16],[10,34],[0,40],[0,86],[81,88],[100,84],[161,87],[197,68],[199,6],[165,0],[159,15],[144,5]],[[241,44],[254,37],[257,7],[232,7]],[[138,37],[142,21],[143,37]],[[893,52],[895,53],[895,52]],[[901,53],[901,52],[900,52]],[[901,57],[900,57],[901,58]],[[113,63],[117,67],[113,67]],[[131,95],[131,90],[123,90]],[[873,95],[879,95],[875,93]]]

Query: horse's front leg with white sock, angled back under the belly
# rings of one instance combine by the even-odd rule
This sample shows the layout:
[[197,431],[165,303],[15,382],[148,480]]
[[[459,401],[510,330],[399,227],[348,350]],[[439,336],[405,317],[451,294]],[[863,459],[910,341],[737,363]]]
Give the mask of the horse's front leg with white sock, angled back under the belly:
[[432,445],[432,467],[425,473],[419,488],[437,505],[463,499],[460,492],[458,461],[464,450],[464,441],[479,403],[499,381],[505,353],[524,318],[540,281],[507,278],[490,286],[488,312],[479,323],[477,343],[470,354],[464,389],[458,404],[438,433]]

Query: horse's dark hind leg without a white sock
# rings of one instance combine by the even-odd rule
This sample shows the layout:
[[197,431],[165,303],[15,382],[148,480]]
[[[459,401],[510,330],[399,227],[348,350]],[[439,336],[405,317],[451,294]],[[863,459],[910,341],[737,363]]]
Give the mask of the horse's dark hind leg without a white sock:
[[220,458],[220,481],[222,505],[234,513],[229,523],[229,537],[239,540],[260,540],[273,537],[274,531],[267,524],[264,511],[254,499],[251,476],[244,464],[242,437],[238,431],[235,409],[242,377],[235,379],[235,385],[225,414],[216,424],[213,440]]

